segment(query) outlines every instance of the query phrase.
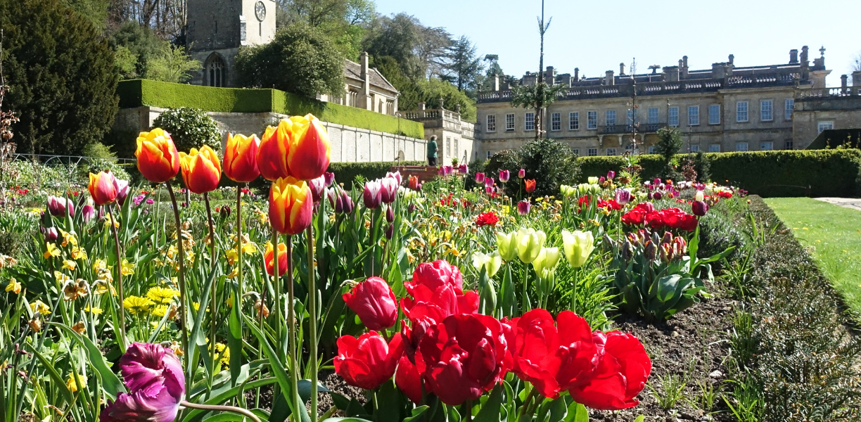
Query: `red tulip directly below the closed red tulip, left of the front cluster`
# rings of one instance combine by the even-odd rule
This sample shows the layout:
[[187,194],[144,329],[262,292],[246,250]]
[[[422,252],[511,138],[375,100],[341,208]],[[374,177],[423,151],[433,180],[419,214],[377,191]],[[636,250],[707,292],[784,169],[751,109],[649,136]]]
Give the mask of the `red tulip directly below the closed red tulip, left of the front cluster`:
[[355,338],[338,338],[338,356],[333,363],[335,373],[353,387],[373,390],[387,382],[404,354],[400,332],[386,344],[386,339],[375,331]]

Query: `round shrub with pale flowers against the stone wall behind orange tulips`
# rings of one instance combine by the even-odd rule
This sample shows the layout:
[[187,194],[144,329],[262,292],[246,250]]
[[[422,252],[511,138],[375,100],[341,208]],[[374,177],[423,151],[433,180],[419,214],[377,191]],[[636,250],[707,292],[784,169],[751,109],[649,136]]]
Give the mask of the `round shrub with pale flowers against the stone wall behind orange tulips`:
[[208,145],[218,151],[221,149],[221,133],[218,122],[201,109],[169,109],[152,121],[152,127],[161,127],[173,138],[177,150],[189,152],[191,148]]

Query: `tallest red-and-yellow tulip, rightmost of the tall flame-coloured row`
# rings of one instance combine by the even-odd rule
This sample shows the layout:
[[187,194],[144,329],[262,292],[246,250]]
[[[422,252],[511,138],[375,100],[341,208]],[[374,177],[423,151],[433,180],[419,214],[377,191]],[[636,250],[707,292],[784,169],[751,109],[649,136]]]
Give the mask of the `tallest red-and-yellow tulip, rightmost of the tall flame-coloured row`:
[[329,168],[331,145],[329,134],[314,115],[294,115],[293,137],[287,156],[290,176],[311,180],[323,176]]

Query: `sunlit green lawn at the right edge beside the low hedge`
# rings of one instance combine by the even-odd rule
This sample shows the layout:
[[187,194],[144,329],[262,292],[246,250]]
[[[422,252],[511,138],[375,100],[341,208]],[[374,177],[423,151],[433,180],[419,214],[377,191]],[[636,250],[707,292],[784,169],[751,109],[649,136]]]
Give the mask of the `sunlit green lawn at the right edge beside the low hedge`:
[[765,200],[807,246],[846,304],[861,314],[861,211],[810,198]]

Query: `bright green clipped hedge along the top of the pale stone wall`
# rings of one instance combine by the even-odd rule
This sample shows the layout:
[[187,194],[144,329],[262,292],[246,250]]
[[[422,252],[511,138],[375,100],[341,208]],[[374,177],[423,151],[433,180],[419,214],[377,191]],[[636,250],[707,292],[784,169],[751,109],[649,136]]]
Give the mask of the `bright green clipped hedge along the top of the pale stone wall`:
[[120,107],[123,109],[146,105],[164,109],[190,107],[220,113],[312,113],[320,120],[330,123],[424,139],[424,125],[418,121],[303,98],[282,90],[214,88],[133,79],[121,81],[116,92],[120,96]]

